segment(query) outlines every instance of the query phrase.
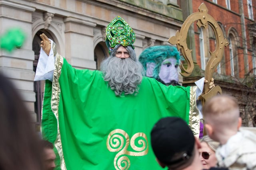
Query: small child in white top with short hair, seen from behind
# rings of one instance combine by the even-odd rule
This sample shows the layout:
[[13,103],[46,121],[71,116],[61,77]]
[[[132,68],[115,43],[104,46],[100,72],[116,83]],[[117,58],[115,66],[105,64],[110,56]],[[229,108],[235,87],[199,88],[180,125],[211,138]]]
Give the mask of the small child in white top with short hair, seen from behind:
[[230,170],[256,170],[256,135],[239,130],[242,119],[236,98],[214,96],[206,102],[203,114],[209,137],[220,142],[216,150],[218,166]]

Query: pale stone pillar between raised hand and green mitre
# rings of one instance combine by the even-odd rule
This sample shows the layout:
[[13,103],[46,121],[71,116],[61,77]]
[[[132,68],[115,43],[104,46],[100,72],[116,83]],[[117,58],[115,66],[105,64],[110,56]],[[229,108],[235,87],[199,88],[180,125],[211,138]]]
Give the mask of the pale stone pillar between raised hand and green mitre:
[[96,23],[67,17],[65,23],[66,59],[75,68],[96,69],[93,28]]

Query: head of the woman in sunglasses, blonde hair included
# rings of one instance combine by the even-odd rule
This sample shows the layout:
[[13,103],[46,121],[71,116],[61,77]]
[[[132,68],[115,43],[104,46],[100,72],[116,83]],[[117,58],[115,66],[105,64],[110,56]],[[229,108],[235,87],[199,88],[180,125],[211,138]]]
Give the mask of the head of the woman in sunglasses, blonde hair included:
[[204,166],[204,169],[209,169],[217,164],[215,157],[215,151],[220,143],[212,140],[208,135],[205,135],[200,139],[201,148],[199,149],[200,160]]

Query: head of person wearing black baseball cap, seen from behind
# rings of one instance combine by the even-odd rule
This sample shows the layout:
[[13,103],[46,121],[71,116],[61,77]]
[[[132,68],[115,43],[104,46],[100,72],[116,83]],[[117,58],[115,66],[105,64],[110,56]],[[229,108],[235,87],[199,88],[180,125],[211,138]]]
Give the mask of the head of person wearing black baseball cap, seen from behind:
[[151,146],[163,168],[202,170],[199,160],[200,142],[187,123],[178,117],[160,119],[151,131]]

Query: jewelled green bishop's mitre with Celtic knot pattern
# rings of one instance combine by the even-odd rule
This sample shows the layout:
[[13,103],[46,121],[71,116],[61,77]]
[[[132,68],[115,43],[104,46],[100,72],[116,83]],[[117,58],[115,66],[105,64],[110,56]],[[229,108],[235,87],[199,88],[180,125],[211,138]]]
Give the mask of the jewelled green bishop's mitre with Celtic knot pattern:
[[117,16],[108,24],[106,28],[106,45],[109,49],[109,53],[119,44],[124,47],[130,45],[134,49],[134,42],[134,31],[120,16]]

